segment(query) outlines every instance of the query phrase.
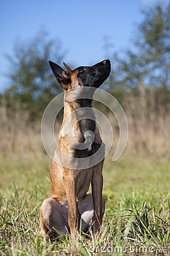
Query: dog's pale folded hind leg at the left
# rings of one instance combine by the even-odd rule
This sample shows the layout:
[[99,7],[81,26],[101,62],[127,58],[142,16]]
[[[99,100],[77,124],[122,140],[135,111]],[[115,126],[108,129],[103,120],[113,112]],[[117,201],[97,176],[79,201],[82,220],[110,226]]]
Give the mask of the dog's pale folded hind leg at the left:
[[68,233],[67,205],[59,204],[56,199],[45,199],[40,207],[40,227],[44,236],[59,237]]

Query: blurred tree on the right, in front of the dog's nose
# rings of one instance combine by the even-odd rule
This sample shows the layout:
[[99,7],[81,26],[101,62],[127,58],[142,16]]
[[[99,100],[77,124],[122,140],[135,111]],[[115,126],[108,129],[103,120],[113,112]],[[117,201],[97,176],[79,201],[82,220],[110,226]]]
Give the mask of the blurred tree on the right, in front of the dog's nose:
[[124,56],[114,53],[112,81],[116,88],[139,84],[170,89],[170,1],[143,11],[133,49]]

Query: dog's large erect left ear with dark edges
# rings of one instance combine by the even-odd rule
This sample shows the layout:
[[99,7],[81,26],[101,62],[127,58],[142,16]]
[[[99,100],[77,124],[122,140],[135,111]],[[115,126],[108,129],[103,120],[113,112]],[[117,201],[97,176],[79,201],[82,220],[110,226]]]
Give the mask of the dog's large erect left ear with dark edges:
[[70,73],[64,71],[61,67],[59,67],[59,65],[57,65],[53,61],[49,61],[49,65],[61,87],[67,90],[69,83],[71,82]]

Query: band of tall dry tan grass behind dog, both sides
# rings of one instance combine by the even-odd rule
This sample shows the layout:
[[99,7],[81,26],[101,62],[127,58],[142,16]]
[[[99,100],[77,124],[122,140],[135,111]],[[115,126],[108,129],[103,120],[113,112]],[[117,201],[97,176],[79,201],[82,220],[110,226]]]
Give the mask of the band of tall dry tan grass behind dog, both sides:
[[[158,93],[141,85],[139,96],[127,94],[122,106],[129,125],[126,154],[168,158],[170,102],[163,102],[163,98],[158,100]],[[15,102],[10,110],[6,107],[5,101],[1,102],[0,115],[2,155],[22,156],[25,152],[39,154],[40,151],[44,151],[40,138],[40,121],[37,124],[29,123],[29,113],[23,112]],[[114,139],[116,138],[114,148],[119,138],[119,127],[112,113],[108,112],[106,115],[112,124]]]

